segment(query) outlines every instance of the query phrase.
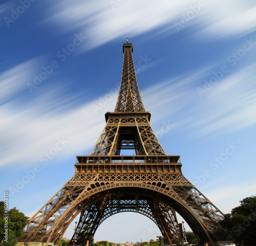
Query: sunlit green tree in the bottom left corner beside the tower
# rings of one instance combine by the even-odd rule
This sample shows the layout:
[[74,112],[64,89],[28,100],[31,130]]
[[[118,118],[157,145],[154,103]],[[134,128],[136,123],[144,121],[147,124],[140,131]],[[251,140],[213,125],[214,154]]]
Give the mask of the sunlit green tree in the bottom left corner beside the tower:
[[[28,217],[24,213],[19,212],[16,207],[8,211],[8,216],[5,215],[4,202],[0,202],[0,242],[6,246],[14,246],[20,236],[23,234],[23,229],[28,223]],[[4,240],[5,230],[8,229],[8,239]]]

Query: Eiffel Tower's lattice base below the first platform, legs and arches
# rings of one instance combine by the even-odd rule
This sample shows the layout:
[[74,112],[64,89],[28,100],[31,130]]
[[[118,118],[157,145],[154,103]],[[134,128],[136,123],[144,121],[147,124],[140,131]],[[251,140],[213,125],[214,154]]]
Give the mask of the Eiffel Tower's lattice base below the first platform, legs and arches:
[[202,240],[222,237],[223,214],[182,173],[142,172],[76,173],[30,219],[22,240],[57,243],[79,213],[77,239],[91,240],[104,219],[124,211],[150,217],[166,241],[175,241],[174,211]]

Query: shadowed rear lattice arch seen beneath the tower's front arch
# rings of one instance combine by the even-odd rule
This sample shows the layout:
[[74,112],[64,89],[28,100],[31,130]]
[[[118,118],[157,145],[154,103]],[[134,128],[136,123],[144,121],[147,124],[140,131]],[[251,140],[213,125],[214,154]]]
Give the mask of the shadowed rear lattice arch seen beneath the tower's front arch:
[[[91,241],[99,225],[108,217],[120,212],[136,212],[152,219],[162,234],[169,233],[169,237],[175,235],[177,218],[172,208],[165,206],[159,197],[145,198],[141,195],[116,194],[102,196],[97,202],[83,210],[77,226],[75,240],[83,244]],[[72,237],[71,241],[74,238]]]

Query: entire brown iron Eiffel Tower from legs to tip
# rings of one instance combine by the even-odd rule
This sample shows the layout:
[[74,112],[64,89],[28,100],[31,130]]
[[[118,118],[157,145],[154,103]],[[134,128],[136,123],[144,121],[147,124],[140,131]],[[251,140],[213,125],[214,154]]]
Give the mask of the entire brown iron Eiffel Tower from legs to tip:
[[[152,219],[168,244],[177,240],[176,212],[201,245],[223,239],[219,221],[224,214],[183,176],[180,156],[167,155],[151,127],[128,39],[123,53],[115,111],[105,114],[106,125],[93,150],[77,156],[75,174],[31,217],[21,240],[58,244],[80,214],[70,243],[92,242],[102,221],[120,212]],[[136,155],[120,155],[127,149]]]

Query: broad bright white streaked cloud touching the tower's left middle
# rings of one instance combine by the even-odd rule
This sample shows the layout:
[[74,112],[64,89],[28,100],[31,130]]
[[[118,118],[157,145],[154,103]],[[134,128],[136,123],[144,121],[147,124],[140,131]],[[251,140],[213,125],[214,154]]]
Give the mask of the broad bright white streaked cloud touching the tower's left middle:
[[57,108],[60,110],[61,102],[65,102],[62,98],[54,102],[54,93],[57,90],[25,105],[12,102],[2,106],[3,133],[0,142],[5,146],[1,153],[2,166],[25,167],[40,163],[40,156],[54,148],[58,139],[69,142],[61,151],[61,159],[82,154],[93,147],[104,126],[102,115],[95,115],[91,104],[65,113],[53,111],[56,104],[59,104]]

